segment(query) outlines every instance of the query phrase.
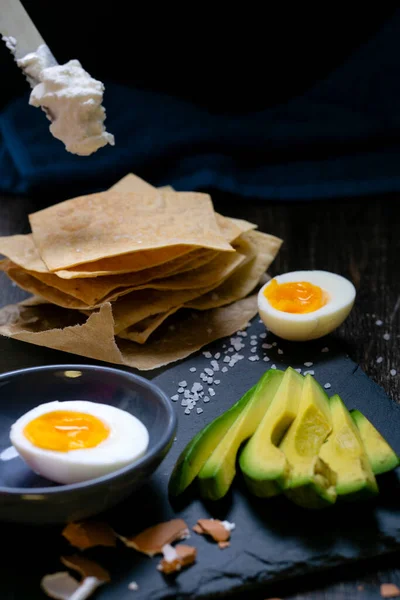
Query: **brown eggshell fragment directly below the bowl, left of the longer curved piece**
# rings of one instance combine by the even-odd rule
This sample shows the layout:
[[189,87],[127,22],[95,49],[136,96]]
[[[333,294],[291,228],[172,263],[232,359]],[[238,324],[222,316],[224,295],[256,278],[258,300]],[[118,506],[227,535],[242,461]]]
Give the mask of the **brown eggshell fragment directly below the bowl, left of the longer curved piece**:
[[62,535],[71,546],[86,550],[95,546],[116,546],[116,535],[107,523],[101,521],[80,521],[68,523]]

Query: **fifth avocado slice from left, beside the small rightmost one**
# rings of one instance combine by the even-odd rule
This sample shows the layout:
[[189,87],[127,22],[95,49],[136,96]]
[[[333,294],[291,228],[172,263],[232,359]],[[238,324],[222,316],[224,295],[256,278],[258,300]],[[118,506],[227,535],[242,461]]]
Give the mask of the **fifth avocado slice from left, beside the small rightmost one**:
[[340,396],[329,401],[333,430],[322,445],[320,458],[336,471],[336,492],[344,500],[358,500],[379,492],[359,431]]

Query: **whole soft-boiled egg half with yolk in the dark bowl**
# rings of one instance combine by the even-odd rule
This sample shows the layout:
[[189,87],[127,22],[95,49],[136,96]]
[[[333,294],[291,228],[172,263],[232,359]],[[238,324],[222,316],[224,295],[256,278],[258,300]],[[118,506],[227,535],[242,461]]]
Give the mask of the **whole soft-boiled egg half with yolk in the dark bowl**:
[[25,413],[11,426],[10,440],[35,473],[70,484],[132,464],[146,452],[149,434],[124,410],[71,400]]

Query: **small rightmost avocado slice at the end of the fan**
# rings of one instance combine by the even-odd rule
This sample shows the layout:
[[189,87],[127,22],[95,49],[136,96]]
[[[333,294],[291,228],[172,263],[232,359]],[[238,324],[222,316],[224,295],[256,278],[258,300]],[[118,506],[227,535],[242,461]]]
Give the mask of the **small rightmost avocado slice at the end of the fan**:
[[357,425],[374,475],[381,475],[398,467],[400,458],[371,421],[359,410],[351,410],[350,414]]

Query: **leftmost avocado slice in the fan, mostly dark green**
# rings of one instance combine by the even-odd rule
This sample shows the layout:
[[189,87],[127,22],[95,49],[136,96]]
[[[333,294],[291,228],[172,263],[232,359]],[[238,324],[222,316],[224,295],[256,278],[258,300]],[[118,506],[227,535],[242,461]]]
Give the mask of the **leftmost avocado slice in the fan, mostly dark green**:
[[208,457],[251,400],[256,385],[250,388],[231,408],[206,425],[186,445],[179,455],[169,479],[168,491],[172,496],[178,496],[192,483]]

